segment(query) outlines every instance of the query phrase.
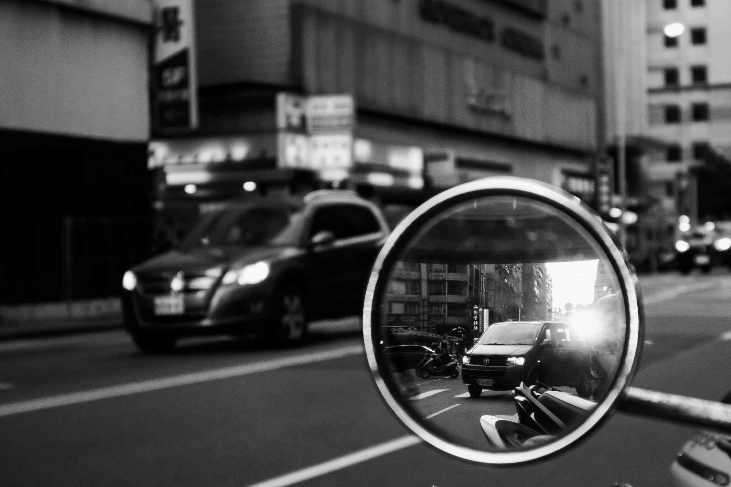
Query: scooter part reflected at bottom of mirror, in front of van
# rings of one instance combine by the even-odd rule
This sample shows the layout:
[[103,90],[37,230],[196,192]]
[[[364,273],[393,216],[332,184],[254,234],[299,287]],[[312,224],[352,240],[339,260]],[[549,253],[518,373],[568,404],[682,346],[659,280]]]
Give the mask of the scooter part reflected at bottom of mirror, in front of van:
[[497,450],[530,448],[551,440],[569,426],[583,421],[596,402],[538,383],[520,383],[512,394],[518,421],[483,415],[482,432]]

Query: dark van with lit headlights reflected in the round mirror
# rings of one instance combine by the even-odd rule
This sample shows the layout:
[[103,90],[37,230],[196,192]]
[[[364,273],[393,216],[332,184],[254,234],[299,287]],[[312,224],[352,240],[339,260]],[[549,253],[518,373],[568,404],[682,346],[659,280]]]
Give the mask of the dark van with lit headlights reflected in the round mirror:
[[494,323],[462,358],[462,381],[472,397],[521,382],[574,387],[589,396],[591,380],[591,348],[570,323]]

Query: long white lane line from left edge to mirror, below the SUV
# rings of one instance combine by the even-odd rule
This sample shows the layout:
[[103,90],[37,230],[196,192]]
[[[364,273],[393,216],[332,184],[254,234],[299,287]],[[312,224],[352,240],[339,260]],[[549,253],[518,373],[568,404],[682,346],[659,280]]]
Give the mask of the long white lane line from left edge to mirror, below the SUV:
[[188,386],[190,384],[208,382],[210,380],[239,377],[241,375],[267,372],[269,370],[292,367],[295,365],[311,364],[312,362],[331,360],[333,358],[341,358],[360,353],[363,353],[363,345],[351,345],[348,347],[336,348],[335,350],[327,350],[325,352],[304,353],[293,357],[274,358],[273,360],[255,362],[254,364],[224,367],[222,369],[193,372],[191,374],[175,375],[173,377],[163,377],[160,379],[143,380],[141,382],[121,384],[120,386],[72,392],[71,394],[60,394],[58,396],[42,397],[40,399],[31,399],[29,401],[10,402],[7,404],[0,404],[0,417],[18,413],[27,413],[29,411],[43,410],[50,407],[108,399],[110,397],[128,396],[129,394],[139,394],[140,392],[158,391],[159,389],[170,387]]

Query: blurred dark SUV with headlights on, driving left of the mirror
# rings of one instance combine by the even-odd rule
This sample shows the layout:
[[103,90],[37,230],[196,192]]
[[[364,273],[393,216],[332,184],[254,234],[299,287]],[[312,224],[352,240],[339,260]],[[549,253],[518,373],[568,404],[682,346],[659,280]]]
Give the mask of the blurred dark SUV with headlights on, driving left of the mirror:
[[309,319],[360,312],[387,235],[378,207],[351,191],[229,202],[180,248],[126,272],[126,329],[145,352],[209,333],[299,342]]

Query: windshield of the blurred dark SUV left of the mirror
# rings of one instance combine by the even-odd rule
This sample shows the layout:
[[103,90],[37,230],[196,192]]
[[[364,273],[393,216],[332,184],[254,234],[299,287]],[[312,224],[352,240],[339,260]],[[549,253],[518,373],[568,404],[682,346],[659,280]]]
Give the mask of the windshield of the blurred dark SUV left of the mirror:
[[298,207],[236,207],[204,215],[181,245],[183,250],[209,246],[297,245]]

